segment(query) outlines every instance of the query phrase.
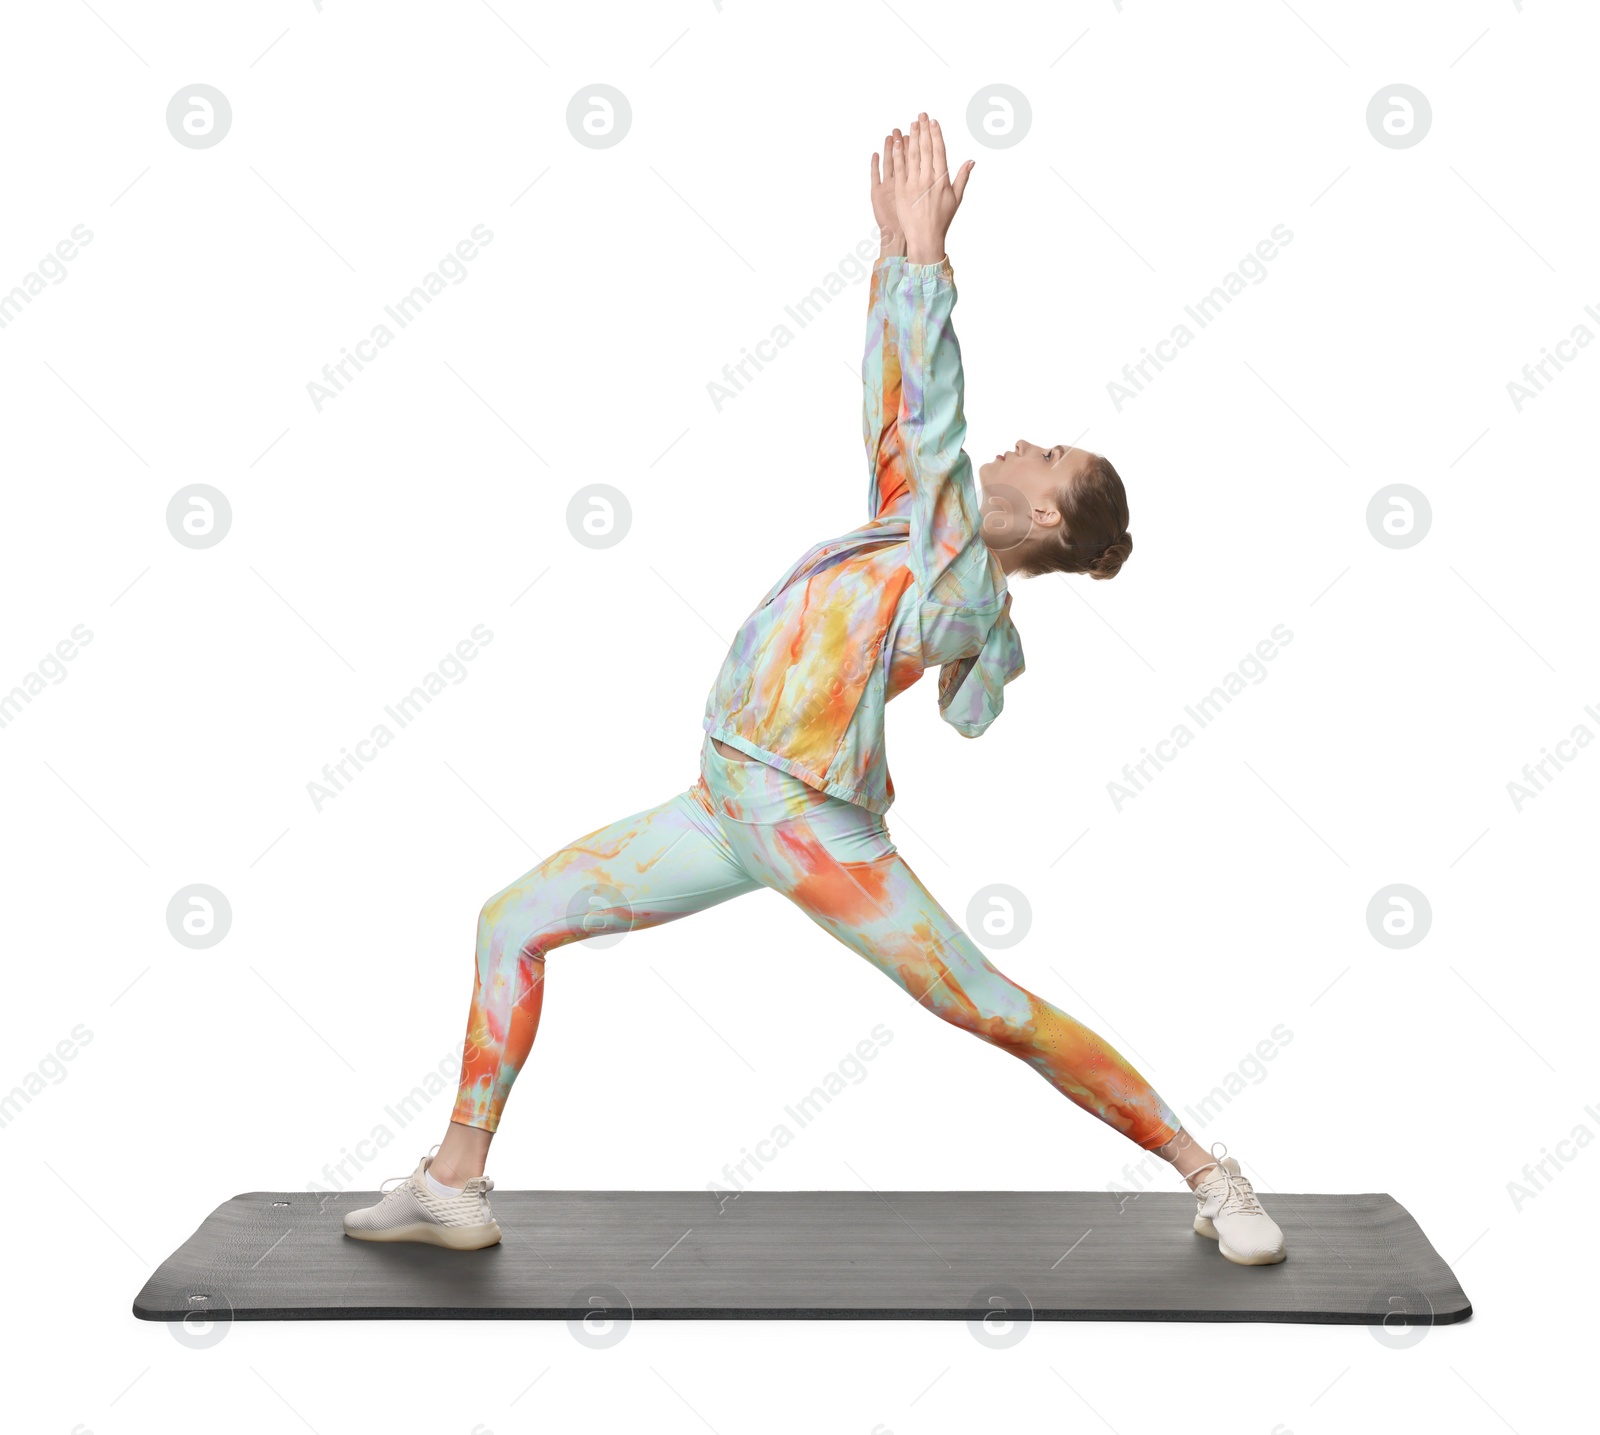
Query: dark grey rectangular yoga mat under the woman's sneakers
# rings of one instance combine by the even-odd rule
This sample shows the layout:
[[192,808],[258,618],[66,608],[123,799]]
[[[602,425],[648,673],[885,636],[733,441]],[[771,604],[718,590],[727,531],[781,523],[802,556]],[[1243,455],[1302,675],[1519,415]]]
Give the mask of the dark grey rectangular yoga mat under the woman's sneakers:
[[483,1251],[379,1245],[376,1192],[224,1201],[139,1291],[141,1320],[1270,1320],[1472,1313],[1389,1195],[1269,1195],[1288,1259],[1243,1267],[1182,1192],[498,1190]]

